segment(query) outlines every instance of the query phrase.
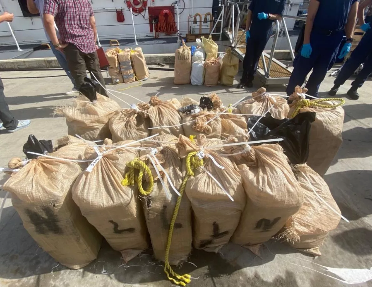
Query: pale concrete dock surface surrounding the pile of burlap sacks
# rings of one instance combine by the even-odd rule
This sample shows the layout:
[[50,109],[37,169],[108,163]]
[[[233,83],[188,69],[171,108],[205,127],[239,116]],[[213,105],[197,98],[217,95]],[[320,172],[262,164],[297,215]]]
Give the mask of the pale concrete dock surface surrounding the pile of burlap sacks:
[[[14,134],[0,130],[0,166],[9,159],[23,157],[22,146],[29,134],[38,139],[56,139],[67,133],[64,118],[53,117],[51,108],[69,102],[71,96],[64,93],[72,88],[63,71],[1,72],[5,94],[10,109],[19,119],[32,119],[31,127]],[[237,77],[238,79],[238,77]],[[327,77],[321,85],[321,95],[330,89],[333,77]],[[348,81],[339,92],[346,97],[350,87]],[[110,86],[124,89],[137,84]],[[256,87],[258,88],[258,87]],[[152,71],[147,82],[122,92],[148,101],[160,92],[163,99],[201,95],[216,92],[225,104],[234,103],[254,89],[237,90],[234,87],[174,86],[173,72]],[[283,93],[284,86],[271,86],[269,92]],[[334,268],[372,267],[372,82],[369,80],[360,89],[361,98],[350,101],[346,98],[344,143],[325,175],[330,189],[343,215],[350,223],[341,221],[321,247],[323,253],[317,259],[303,255],[281,242],[270,241],[255,256],[247,249],[229,244],[219,254],[194,250],[179,274],[189,272],[196,278],[190,287],[334,287],[342,286],[337,277],[326,272],[321,264]],[[129,102],[127,96],[117,94]],[[125,107],[123,102],[119,102]],[[0,175],[3,176],[3,175]],[[0,177],[1,179],[1,177]],[[0,185],[5,178],[0,180]],[[5,192],[0,191],[0,201]],[[172,286],[166,279],[161,262],[151,256],[151,250],[133,259],[126,267],[121,255],[106,244],[103,245],[96,262],[72,271],[58,265],[43,252],[22,226],[18,214],[7,200],[0,221],[0,286],[22,287],[116,287],[116,286]],[[305,267],[301,267],[303,265]],[[311,270],[314,269],[314,270]],[[106,271],[106,272],[103,272]],[[102,274],[107,273],[107,274]],[[355,286],[372,286],[372,281]]]

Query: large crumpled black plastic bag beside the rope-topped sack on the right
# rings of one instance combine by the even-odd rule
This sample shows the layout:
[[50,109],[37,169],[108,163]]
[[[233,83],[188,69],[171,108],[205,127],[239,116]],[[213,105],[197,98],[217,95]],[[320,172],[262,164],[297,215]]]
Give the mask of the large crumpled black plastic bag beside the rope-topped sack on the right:
[[250,140],[283,138],[279,142],[292,164],[305,163],[309,156],[309,136],[311,123],[315,121],[314,112],[299,113],[292,119],[275,119],[269,113],[258,123],[259,116],[248,119]]

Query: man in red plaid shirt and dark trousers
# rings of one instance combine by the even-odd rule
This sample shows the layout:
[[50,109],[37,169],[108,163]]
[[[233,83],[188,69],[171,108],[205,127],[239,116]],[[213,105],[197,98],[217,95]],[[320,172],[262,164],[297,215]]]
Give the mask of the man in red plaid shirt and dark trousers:
[[[57,37],[54,22],[61,39]],[[84,83],[86,70],[105,86],[97,56],[96,20],[89,0],[45,0],[44,25],[54,47],[64,51],[76,86],[80,88]],[[100,92],[107,96],[104,90]]]

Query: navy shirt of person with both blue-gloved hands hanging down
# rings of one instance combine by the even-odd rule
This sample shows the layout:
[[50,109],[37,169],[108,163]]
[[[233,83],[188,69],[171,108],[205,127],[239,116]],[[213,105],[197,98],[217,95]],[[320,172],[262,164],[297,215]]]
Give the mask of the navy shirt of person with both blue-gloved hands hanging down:
[[[319,8],[314,28],[337,31],[344,29],[351,6],[359,0],[317,0]],[[313,29],[314,29],[313,28]]]

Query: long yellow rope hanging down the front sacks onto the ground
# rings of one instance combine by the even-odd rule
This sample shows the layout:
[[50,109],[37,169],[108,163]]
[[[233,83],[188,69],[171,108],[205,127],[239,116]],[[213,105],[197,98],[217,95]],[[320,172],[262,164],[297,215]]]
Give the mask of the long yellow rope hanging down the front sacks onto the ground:
[[[186,286],[186,283],[190,283],[190,275],[189,274],[184,274],[184,275],[178,275],[176,272],[173,271],[172,267],[169,264],[169,251],[170,251],[170,246],[172,244],[172,236],[173,236],[173,229],[174,229],[174,223],[176,223],[178,211],[180,209],[182,197],[183,197],[183,192],[185,191],[187,181],[191,176],[194,176],[194,170],[199,168],[200,166],[203,166],[203,160],[199,159],[198,157],[195,156],[196,152],[191,152],[187,155],[186,157],[186,169],[187,173],[185,178],[182,181],[181,189],[180,189],[180,195],[177,198],[177,203],[176,207],[174,208],[172,220],[170,222],[170,227],[169,227],[169,233],[168,233],[168,242],[167,242],[167,248],[165,251],[165,260],[164,260],[164,272],[167,274],[168,279],[173,282],[174,284],[181,285],[181,286]],[[173,277],[176,277],[178,280],[175,280],[174,278],[170,277],[170,274]]]

